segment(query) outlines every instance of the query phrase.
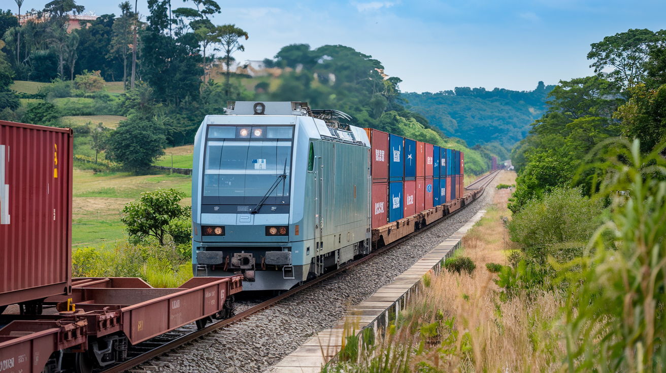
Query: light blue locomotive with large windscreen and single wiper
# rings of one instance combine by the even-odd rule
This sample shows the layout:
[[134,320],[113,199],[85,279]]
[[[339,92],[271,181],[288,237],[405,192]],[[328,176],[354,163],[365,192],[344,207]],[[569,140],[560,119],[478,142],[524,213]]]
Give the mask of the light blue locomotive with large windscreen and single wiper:
[[229,102],[196,132],[192,267],[285,291],[370,252],[370,142],[336,110]]

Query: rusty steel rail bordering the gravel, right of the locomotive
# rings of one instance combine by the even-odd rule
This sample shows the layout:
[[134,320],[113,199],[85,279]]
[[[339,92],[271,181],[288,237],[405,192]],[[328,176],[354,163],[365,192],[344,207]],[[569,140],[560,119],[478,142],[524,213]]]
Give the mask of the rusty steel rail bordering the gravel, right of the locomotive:
[[[470,184],[472,186],[473,184],[476,184],[477,182],[484,182],[483,188],[484,191],[479,195],[481,197],[484,195],[486,192],[485,187],[490,184],[495,177],[499,174],[501,170],[496,170],[494,172],[491,172],[490,174],[480,178],[479,180],[476,180],[474,183]],[[488,179],[488,180],[486,180]],[[469,187],[469,186],[468,186]],[[481,189],[475,188],[475,189]],[[478,198],[477,198],[478,199]],[[366,261],[369,261],[370,259],[381,255],[382,253],[385,253],[386,251],[392,249],[393,247],[396,247],[397,245],[400,245],[401,243],[404,243],[408,239],[411,239],[415,237],[416,235],[419,235],[420,233],[423,233],[425,231],[428,231],[430,228],[434,227],[435,225],[438,225],[438,223],[442,223],[445,220],[449,219],[450,217],[456,215],[456,213],[459,213],[460,211],[463,211],[468,205],[465,207],[458,209],[441,219],[439,219],[436,222],[430,223],[426,225],[425,227],[419,229],[418,231],[414,231],[400,239],[397,239],[396,241],[393,241],[392,243],[389,243],[388,245],[381,247],[380,249],[377,249],[376,251],[373,251],[366,257],[362,257],[356,261],[352,261],[351,263],[348,263],[344,267],[340,267],[334,271],[331,271],[329,273],[326,273],[325,275],[322,275],[312,281],[309,281],[307,283],[304,283],[303,285],[300,285],[299,287],[296,287],[294,289],[291,289],[290,291],[287,291],[286,293],[283,293],[281,295],[278,295],[277,297],[273,297],[269,299],[268,301],[264,301],[254,307],[250,307],[249,309],[246,309],[245,311],[240,312],[239,314],[236,314],[235,316],[232,316],[230,318],[226,318],[224,320],[220,320],[218,322],[214,322],[201,330],[196,330],[195,332],[190,332],[188,334],[185,334],[183,336],[180,336],[174,340],[171,340],[170,342],[166,342],[162,346],[156,347],[153,350],[150,350],[148,352],[145,352],[139,356],[135,356],[134,358],[131,358],[129,360],[125,360],[124,362],[121,362],[120,364],[117,364],[115,366],[112,366],[109,369],[102,370],[100,373],[121,373],[125,372],[125,370],[129,370],[131,368],[134,368],[135,366],[138,366],[139,364],[143,364],[144,362],[147,362],[148,360],[151,360],[152,358],[155,358],[157,356],[160,356],[161,354],[164,354],[165,352],[168,352],[170,350],[173,350],[174,348],[178,348],[182,346],[183,344],[186,344],[188,342],[192,342],[192,340],[195,340],[196,338],[199,338],[200,336],[204,336],[205,334],[208,334],[214,330],[217,330],[219,328],[222,328],[224,326],[233,324],[234,322],[238,322],[240,320],[243,320],[244,318],[247,318],[248,316],[252,316],[252,314],[255,314],[256,312],[262,311],[264,309],[267,309],[268,307],[271,307],[272,305],[275,305],[276,303],[282,301],[283,299],[286,299],[299,291],[303,291],[305,289],[308,289],[309,287],[312,287],[312,285],[316,285],[318,283],[321,283],[322,281],[325,281],[326,279],[330,279],[330,277],[333,277],[335,275],[338,275],[339,273],[342,273],[342,271],[346,271],[350,268],[356,267],[357,265],[360,265],[362,263],[365,263]]]

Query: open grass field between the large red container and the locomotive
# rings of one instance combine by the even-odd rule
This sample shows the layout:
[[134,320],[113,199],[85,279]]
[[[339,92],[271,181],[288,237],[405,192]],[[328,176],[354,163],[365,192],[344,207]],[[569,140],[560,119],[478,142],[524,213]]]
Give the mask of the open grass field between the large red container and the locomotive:
[[182,204],[192,203],[190,176],[93,174],[88,170],[74,170],[73,247],[100,247],[123,239],[125,226],[120,221],[123,206],[137,199],[142,192],[158,188],[182,191],[186,194]]

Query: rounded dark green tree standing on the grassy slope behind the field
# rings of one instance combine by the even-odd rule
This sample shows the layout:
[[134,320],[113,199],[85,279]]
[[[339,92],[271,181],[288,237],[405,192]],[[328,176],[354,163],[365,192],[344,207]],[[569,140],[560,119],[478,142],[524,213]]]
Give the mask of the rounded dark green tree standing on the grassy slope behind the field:
[[164,155],[164,128],[138,115],[121,122],[109,138],[109,156],[133,170],[146,170]]

